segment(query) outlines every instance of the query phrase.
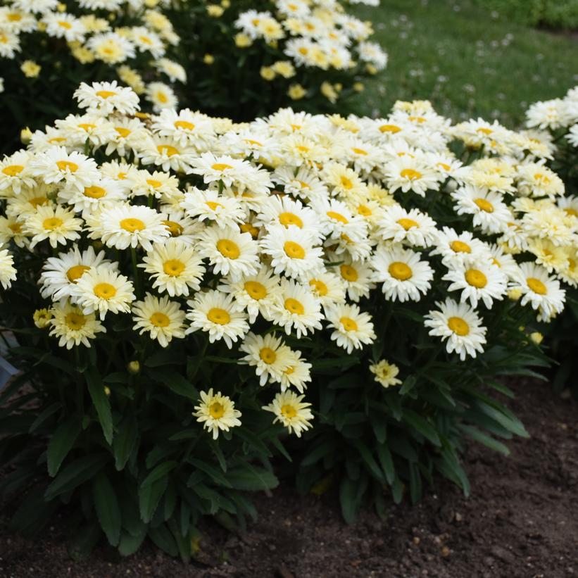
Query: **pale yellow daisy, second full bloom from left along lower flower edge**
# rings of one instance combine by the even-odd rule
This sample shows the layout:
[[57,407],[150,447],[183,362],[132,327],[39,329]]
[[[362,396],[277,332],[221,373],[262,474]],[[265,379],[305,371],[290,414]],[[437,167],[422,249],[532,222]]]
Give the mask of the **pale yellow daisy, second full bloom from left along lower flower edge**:
[[184,311],[179,303],[169,301],[167,296],[158,297],[147,293],[143,301],[132,304],[133,329],[139,335],[148,332],[161,347],[167,347],[174,338],[184,338]]

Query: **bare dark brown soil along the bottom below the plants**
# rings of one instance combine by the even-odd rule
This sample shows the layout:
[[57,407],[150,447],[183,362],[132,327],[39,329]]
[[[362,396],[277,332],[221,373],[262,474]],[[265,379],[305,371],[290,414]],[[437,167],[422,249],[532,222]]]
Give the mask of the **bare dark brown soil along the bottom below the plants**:
[[99,549],[77,563],[60,519],[25,541],[0,518],[0,577],[578,577],[578,404],[544,383],[515,389],[532,438],[512,441],[508,458],[472,446],[470,498],[439,482],[415,507],[391,505],[385,522],[365,512],[346,526],[331,493],[300,498],[282,487],[258,497],[259,520],[242,536],[207,524],[189,565],[153,546],[120,561]]

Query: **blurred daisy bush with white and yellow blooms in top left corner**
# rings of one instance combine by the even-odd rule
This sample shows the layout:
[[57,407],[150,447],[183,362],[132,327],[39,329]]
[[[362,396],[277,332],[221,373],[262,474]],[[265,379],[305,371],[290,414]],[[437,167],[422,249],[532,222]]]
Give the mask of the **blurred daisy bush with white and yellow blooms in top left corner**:
[[81,80],[121,80],[156,111],[176,106],[172,85],[186,82],[187,73],[172,56],[180,39],[162,4],[156,8],[147,6],[158,3],[144,0],[3,4],[1,85],[6,107],[18,123],[28,124],[32,118],[42,126],[54,119],[54,108],[57,114],[70,110],[70,97]]

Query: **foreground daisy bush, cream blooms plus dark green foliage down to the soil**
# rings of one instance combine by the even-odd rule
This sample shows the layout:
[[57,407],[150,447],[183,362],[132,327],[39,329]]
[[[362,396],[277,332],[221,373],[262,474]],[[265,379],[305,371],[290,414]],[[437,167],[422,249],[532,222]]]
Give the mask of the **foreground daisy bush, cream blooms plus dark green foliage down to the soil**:
[[547,133],[425,101],[140,118],[133,92],[99,90],[0,161],[14,527],[66,503],[73,548],[149,536],[189,558],[201,516],[254,515],[273,456],[303,491],[339,486],[351,521],[436,475],[467,492],[466,439],[527,435],[494,394],[547,365],[536,324],[569,274],[532,248],[575,249],[578,226],[559,188],[527,184]]

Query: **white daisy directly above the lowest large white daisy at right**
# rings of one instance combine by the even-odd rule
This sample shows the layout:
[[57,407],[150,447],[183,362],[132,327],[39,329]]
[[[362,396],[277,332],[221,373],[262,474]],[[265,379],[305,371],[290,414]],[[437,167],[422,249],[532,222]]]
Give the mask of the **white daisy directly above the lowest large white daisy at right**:
[[478,301],[491,309],[494,299],[501,301],[505,295],[508,278],[490,259],[470,258],[453,265],[444,281],[451,282],[448,291],[461,291],[460,301],[470,301],[477,307]]

